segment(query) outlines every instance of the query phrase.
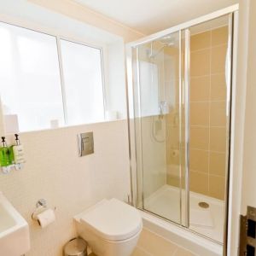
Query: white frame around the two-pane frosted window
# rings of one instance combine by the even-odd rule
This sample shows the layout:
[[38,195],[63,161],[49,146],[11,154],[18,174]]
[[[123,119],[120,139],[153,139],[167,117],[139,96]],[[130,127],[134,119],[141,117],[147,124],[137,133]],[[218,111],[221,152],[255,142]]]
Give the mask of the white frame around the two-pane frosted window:
[[[49,27],[44,27],[38,25],[36,22],[27,22],[25,20],[15,19],[13,17],[9,17],[7,15],[0,15],[0,22],[8,24],[10,26],[18,26],[20,28],[25,28],[31,30],[33,32],[39,32],[51,37],[55,37],[56,40],[56,48],[57,48],[57,55],[58,55],[58,65],[59,65],[59,74],[60,74],[60,82],[61,82],[61,97],[62,97],[62,106],[63,106],[63,117],[64,117],[64,127],[66,126],[76,126],[76,125],[69,125],[67,119],[67,99],[65,93],[65,81],[64,81],[64,74],[63,74],[63,65],[62,65],[62,56],[61,56],[61,39],[66,40],[68,42],[74,44],[81,44],[90,48],[99,49],[101,55],[101,68],[102,68],[102,94],[103,94],[103,113],[104,119],[102,122],[105,122],[106,119],[106,107],[107,107],[107,89],[106,84],[108,82],[108,75],[106,70],[108,70],[108,50],[105,44],[99,44],[95,41],[84,40],[78,38],[72,33],[62,32],[55,29],[51,29]],[[84,123],[84,125],[87,123]],[[81,125],[81,124],[77,124]],[[45,130],[45,129],[42,129]],[[36,130],[41,131],[41,130]],[[23,131],[23,132],[30,132],[30,131]]]

